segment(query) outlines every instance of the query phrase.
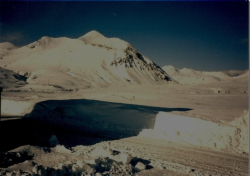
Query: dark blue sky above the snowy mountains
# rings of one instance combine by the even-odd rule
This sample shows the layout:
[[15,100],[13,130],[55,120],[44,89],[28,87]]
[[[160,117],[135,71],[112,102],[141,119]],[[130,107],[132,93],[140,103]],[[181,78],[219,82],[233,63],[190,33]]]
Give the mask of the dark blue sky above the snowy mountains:
[[97,30],[160,66],[248,69],[248,2],[0,2],[0,42]]

